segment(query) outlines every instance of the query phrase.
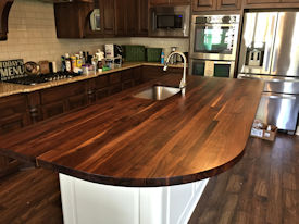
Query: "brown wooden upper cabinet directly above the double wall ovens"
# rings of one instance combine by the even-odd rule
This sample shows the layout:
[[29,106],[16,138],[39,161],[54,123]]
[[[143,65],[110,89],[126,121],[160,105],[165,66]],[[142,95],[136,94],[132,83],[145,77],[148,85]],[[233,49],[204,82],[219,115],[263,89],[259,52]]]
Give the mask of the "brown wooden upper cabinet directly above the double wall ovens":
[[241,0],[194,0],[194,11],[239,10]]

